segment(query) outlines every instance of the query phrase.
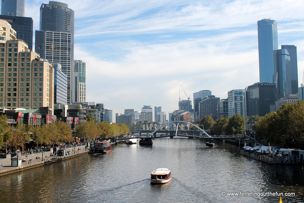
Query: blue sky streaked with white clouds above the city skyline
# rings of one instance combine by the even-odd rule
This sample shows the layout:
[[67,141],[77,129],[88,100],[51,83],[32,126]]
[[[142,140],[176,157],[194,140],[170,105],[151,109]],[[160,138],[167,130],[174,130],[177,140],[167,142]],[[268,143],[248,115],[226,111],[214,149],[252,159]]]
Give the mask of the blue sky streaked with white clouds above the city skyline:
[[[26,0],[39,30],[49,1]],[[295,0],[62,0],[75,11],[74,59],[86,62],[86,99],[123,113],[178,109],[179,95],[227,92],[259,82],[257,21],[278,22],[278,44],[297,46],[304,67],[304,2]],[[180,86],[183,87],[184,91]],[[179,93],[180,92],[180,93]]]

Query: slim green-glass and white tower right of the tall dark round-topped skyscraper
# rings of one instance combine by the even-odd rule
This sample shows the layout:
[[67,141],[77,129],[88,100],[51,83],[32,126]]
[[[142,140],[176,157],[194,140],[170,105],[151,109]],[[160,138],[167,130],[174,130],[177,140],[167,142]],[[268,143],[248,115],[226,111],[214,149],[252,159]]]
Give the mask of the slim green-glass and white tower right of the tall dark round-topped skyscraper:
[[74,60],[75,102],[85,102],[85,62]]

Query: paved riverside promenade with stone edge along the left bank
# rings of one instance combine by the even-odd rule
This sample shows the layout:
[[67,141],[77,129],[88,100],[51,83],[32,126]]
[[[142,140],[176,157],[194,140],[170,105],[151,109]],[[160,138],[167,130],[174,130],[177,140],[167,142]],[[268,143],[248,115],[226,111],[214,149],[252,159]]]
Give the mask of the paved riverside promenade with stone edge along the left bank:
[[[7,174],[6,172],[8,172],[8,171],[13,173],[13,172],[16,172],[16,171],[21,171],[21,170],[26,170],[26,169],[29,169],[29,168],[33,168],[35,166],[37,166],[37,167],[38,166],[42,166],[42,165],[44,165],[44,163],[50,163],[50,160],[52,158],[59,158],[59,159],[62,160],[62,159],[67,159],[67,158],[70,158],[70,157],[74,157],[74,156],[79,155],[79,154],[88,153],[88,151],[89,151],[88,148],[85,149],[84,145],[83,146],[79,146],[79,148],[81,148],[79,151],[77,150],[78,147],[75,148],[76,152],[72,152],[72,150],[74,149],[74,147],[73,148],[67,148],[66,149],[67,151],[71,150],[71,154],[70,155],[66,155],[66,156],[62,156],[62,157],[59,157],[59,156],[50,157],[50,152],[43,152],[43,159],[42,159],[42,153],[33,154],[35,157],[41,157],[41,159],[33,158],[31,162],[22,162],[22,165],[18,166],[18,167],[12,167],[11,164],[9,164],[9,165],[8,164],[3,165],[2,167],[0,167],[0,176],[2,174]],[[25,158],[24,155],[22,155],[21,157]]]

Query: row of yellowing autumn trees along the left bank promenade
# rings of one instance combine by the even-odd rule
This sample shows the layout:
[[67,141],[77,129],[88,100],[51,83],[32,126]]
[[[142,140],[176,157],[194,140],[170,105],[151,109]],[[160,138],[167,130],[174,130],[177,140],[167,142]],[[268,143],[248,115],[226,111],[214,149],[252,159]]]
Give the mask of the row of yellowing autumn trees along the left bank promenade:
[[122,123],[101,122],[96,124],[94,119],[88,119],[74,129],[74,136],[71,128],[61,119],[53,121],[50,125],[33,127],[31,125],[18,124],[16,128],[8,125],[7,116],[0,116],[0,149],[21,149],[24,150],[26,143],[33,141],[37,148],[40,146],[57,146],[61,143],[73,143],[74,136],[82,141],[93,141],[100,137],[118,136],[129,132],[129,127]]

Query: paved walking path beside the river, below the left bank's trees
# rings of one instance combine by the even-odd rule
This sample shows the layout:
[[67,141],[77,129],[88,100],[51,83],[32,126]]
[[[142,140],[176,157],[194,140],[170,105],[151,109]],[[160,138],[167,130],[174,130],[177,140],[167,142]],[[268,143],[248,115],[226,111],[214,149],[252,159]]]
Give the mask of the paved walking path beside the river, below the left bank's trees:
[[[81,148],[81,150],[77,151],[78,147]],[[66,156],[62,156],[62,157],[68,158],[68,157],[71,157],[74,154],[74,152],[72,152],[72,149],[74,149],[74,147],[67,148],[66,150],[68,151],[69,149],[71,149],[71,154],[70,155],[66,155]],[[85,149],[84,145],[83,146],[76,146],[75,149],[76,149],[76,153],[75,154],[77,154],[77,153],[84,153],[84,152],[89,151],[89,148]],[[19,157],[24,157],[24,155],[19,156]],[[32,161],[31,161],[31,163],[29,163],[29,162],[22,162],[22,166],[19,166],[19,167],[24,167],[24,166],[31,165],[31,164],[34,164],[34,163],[40,163],[40,162],[42,162],[42,153],[36,153],[35,157],[41,157],[41,158],[40,159],[33,158]],[[50,160],[51,158],[59,158],[59,156],[50,157],[50,152],[43,152],[43,161]],[[5,170],[10,170],[10,169],[15,169],[15,168],[18,168],[18,167],[17,166],[11,166],[11,164],[10,165],[6,165],[6,166],[2,166],[2,167],[0,167],[0,172],[1,171],[5,171]]]

